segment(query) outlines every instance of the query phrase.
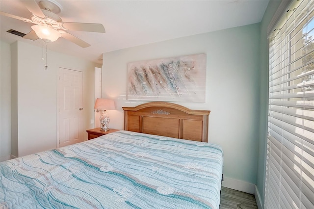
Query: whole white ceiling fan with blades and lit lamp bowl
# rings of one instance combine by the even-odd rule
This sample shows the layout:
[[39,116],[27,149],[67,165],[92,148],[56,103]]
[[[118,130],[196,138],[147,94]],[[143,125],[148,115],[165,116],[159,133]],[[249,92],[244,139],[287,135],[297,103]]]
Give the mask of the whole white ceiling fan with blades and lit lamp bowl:
[[21,0],[26,8],[32,13],[30,19],[12,15],[0,11],[1,15],[22,20],[26,23],[33,23],[32,31],[27,33],[23,38],[30,40],[42,39],[46,43],[56,41],[59,37],[65,38],[80,47],[86,48],[90,44],[68,33],[68,30],[88,31],[105,33],[102,24],[96,23],[66,23],[56,15],[61,11],[61,5],[55,0],[41,0],[39,4],[35,0]]

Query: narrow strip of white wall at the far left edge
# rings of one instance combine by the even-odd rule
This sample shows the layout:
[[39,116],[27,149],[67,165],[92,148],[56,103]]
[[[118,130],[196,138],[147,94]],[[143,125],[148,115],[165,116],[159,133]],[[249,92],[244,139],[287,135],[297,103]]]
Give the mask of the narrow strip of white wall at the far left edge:
[[0,41],[0,161],[11,155],[11,47]]

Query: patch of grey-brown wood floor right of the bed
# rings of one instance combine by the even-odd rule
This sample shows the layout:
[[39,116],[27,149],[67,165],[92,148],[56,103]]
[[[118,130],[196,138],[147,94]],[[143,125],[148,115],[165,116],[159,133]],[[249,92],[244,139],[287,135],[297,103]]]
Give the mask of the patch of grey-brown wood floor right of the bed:
[[253,194],[221,188],[220,209],[257,209]]

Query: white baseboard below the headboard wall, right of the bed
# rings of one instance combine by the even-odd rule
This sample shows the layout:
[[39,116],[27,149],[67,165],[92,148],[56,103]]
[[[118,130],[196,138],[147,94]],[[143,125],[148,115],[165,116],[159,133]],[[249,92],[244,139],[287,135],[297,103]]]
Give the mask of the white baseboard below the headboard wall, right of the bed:
[[243,182],[243,181],[236,180],[236,179],[231,179],[228,177],[224,177],[224,181],[222,182],[222,186],[227,187],[227,188],[231,188],[231,189],[235,189],[238,191],[246,192],[249,194],[255,193],[255,184]]

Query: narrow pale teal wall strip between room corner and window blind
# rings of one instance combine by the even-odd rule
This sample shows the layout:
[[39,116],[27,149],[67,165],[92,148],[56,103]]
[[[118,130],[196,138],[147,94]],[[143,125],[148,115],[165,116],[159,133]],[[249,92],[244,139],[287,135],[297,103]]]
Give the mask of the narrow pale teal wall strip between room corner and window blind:
[[259,131],[259,155],[257,169],[257,188],[264,204],[265,164],[267,145],[267,114],[268,114],[268,66],[269,66],[269,42],[267,27],[274,16],[281,0],[270,0],[261,23],[260,34],[260,131]]

